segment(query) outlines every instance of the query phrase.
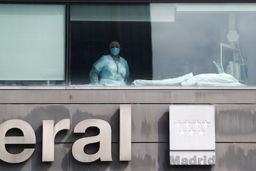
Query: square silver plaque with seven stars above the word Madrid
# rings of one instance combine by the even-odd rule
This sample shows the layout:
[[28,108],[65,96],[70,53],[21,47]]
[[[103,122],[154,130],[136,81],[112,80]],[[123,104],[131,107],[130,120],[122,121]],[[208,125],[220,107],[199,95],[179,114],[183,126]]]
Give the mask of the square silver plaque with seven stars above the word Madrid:
[[215,106],[169,106],[171,165],[215,165]]

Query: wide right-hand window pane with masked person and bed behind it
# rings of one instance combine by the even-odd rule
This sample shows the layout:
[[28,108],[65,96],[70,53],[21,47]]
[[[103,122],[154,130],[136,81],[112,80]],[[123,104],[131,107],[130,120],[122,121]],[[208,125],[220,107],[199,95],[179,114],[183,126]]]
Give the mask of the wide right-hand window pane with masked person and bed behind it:
[[[254,3],[70,6],[70,83],[256,85],[255,17]],[[117,60],[129,65],[128,79],[112,59],[113,40],[119,41]],[[122,75],[115,81],[126,84],[101,80],[116,74]]]

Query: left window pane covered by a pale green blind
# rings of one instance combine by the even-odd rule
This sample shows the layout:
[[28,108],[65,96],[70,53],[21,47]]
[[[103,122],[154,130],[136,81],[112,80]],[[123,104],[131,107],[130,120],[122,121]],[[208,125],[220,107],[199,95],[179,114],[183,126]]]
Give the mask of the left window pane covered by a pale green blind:
[[64,5],[0,4],[0,23],[1,85],[64,84]]

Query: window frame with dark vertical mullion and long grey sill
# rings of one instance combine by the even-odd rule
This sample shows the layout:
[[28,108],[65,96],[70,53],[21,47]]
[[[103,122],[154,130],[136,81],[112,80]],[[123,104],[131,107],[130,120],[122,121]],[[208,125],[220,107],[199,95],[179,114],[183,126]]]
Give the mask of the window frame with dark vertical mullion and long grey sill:
[[[48,89],[67,89],[67,90],[256,90],[256,86],[246,86],[246,87],[220,87],[220,86],[214,86],[214,87],[195,87],[195,86],[189,86],[189,87],[182,87],[182,86],[140,86],[140,87],[135,87],[132,85],[127,85],[127,86],[113,86],[113,87],[108,87],[108,86],[90,86],[86,87],[83,85],[70,85],[70,5],[73,4],[86,4],[86,3],[133,3],[133,4],[139,4],[139,3],[220,3],[220,1],[216,0],[207,0],[207,1],[202,1],[202,0],[186,0],[186,1],[173,1],[173,0],[139,0],[139,1],[134,1],[134,0],[98,0],[95,2],[94,0],[0,0],[0,4],[62,4],[66,8],[66,19],[65,19],[65,85],[61,86],[0,86],[0,90],[12,90],[12,89],[32,89],[32,90],[48,90]],[[224,0],[222,2],[226,3],[246,3],[246,2],[256,2],[255,1],[242,1],[242,0]]]

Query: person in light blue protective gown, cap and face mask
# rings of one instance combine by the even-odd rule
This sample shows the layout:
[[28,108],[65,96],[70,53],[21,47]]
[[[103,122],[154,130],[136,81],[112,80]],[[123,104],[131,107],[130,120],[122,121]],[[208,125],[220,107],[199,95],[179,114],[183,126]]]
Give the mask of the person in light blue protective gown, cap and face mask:
[[[127,61],[119,56],[120,44],[112,41],[109,44],[110,55],[103,55],[92,66],[90,80],[92,84],[126,85],[129,78]],[[100,81],[99,81],[100,78]]]

